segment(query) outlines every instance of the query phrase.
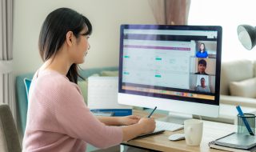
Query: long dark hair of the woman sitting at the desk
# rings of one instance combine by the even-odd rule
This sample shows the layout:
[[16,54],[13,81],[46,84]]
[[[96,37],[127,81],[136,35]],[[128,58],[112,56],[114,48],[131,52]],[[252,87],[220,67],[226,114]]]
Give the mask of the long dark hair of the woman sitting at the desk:
[[[52,56],[55,57],[66,41],[68,31],[72,31],[74,36],[78,38],[79,32],[85,27],[88,29],[86,34],[90,35],[92,32],[90,21],[75,10],[59,8],[48,14],[42,24],[38,42],[42,61],[46,62]],[[78,77],[82,77],[78,74],[77,64],[74,63],[70,66],[66,77],[69,78],[70,82],[78,83]]]

